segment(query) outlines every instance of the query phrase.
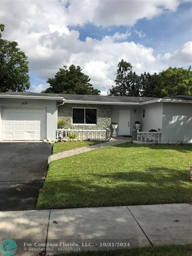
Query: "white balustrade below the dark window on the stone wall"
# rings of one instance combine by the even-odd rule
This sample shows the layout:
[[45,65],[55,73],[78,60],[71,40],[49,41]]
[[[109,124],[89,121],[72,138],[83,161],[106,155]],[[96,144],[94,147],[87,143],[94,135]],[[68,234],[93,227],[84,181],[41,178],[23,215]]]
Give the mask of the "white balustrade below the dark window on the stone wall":
[[[106,130],[77,130],[77,129],[57,129],[56,130],[56,139],[62,139],[68,137],[69,133],[77,134],[77,139],[82,140],[105,140],[106,139]],[[99,136],[98,136],[99,135]]]

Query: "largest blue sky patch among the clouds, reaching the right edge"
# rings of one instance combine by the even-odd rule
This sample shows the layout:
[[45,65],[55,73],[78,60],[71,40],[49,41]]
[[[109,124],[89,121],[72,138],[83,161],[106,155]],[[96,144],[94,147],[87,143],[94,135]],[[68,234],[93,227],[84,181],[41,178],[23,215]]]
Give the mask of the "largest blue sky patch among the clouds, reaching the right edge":
[[[113,35],[115,32],[131,32],[126,41],[134,41],[152,47],[156,54],[174,51],[187,41],[192,40],[192,5],[181,3],[176,12],[165,10],[162,15],[151,20],[143,18],[133,26],[111,26],[103,28],[94,24],[70,26],[70,29],[78,30],[79,39],[85,41],[86,37],[102,39],[105,35]],[[142,31],[144,37],[139,37],[135,30]]]

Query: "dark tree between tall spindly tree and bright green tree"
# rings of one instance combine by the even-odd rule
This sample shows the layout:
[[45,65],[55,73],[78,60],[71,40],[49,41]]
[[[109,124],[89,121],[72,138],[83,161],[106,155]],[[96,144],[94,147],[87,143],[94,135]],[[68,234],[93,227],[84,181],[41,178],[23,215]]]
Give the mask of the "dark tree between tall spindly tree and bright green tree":
[[157,93],[157,73],[144,73],[140,75],[140,96],[142,97],[158,97]]

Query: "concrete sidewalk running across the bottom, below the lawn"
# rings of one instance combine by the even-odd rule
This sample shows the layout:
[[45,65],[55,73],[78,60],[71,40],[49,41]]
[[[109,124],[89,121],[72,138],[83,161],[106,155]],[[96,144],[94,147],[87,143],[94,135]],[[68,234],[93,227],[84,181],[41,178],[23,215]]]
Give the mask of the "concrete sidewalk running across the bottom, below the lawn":
[[[190,204],[0,212],[0,242],[15,239],[17,255],[22,256],[38,255],[40,251],[35,253],[29,248],[43,250],[45,247],[39,244],[45,243],[49,244],[47,255],[61,254],[61,247],[113,249],[100,244],[108,242],[129,243],[130,247],[124,248],[187,244],[192,237],[191,214]],[[59,247],[60,242],[68,244]],[[83,247],[82,243],[88,246]]]

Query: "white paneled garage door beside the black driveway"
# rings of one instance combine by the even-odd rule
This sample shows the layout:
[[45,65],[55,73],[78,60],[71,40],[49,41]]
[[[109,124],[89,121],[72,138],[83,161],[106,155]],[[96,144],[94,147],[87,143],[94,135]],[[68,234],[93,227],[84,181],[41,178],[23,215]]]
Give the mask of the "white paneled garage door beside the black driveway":
[[46,109],[4,107],[2,128],[3,140],[44,140]]

